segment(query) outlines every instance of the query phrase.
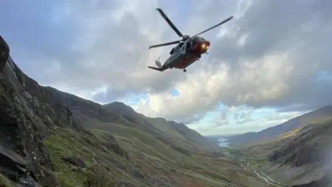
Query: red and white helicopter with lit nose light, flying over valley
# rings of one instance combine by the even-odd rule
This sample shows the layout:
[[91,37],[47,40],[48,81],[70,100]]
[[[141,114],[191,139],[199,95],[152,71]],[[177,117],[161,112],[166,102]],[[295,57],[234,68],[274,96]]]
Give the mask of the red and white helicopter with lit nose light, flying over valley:
[[201,33],[193,35],[183,35],[176,26],[172,23],[172,21],[165,15],[163,10],[160,8],[156,8],[156,10],[160,13],[160,15],[167,21],[167,24],[175,31],[175,33],[182,37],[182,39],[176,40],[174,42],[167,42],[164,44],[157,44],[154,46],[149,46],[150,48],[156,48],[160,46],[169,46],[173,44],[177,44],[171,51],[169,51],[169,57],[162,65],[160,62],[160,57],[155,61],[155,66],[147,66],[149,69],[154,69],[156,71],[165,71],[166,69],[183,69],[183,72],[187,72],[187,66],[190,66],[197,60],[201,59],[202,54],[208,54],[207,51],[210,48],[210,42],[199,35],[216,28],[217,26],[221,26],[225,24],[225,22],[230,21],[233,16],[221,21],[219,24],[212,26],[206,30],[203,30]]

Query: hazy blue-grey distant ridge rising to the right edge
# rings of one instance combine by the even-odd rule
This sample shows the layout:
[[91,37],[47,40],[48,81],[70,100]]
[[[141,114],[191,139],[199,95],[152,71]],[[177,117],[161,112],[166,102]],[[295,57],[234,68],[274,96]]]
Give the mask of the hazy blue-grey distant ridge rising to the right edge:
[[233,144],[238,144],[273,139],[276,136],[279,136],[286,132],[290,132],[299,127],[303,127],[311,123],[317,123],[317,121],[322,121],[326,118],[331,118],[331,116],[332,106],[326,106],[320,109],[316,109],[313,112],[303,114],[302,116],[297,116],[296,118],[293,118],[282,124],[269,127],[265,130],[261,130],[260,132],[248,132],[245,134],[230,136],[228,138],[228,141]]

